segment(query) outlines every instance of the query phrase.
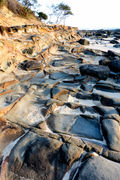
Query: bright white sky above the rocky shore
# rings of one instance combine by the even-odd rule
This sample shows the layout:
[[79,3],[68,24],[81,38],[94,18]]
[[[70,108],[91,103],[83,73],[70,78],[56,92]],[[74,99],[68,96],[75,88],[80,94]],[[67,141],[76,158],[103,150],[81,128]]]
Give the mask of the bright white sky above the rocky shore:
[[120,28],[120,0],[38,0],[39,10],[46,14],[52,4],[69,5],[74,15],[67,17],[65,25],[79,29]]

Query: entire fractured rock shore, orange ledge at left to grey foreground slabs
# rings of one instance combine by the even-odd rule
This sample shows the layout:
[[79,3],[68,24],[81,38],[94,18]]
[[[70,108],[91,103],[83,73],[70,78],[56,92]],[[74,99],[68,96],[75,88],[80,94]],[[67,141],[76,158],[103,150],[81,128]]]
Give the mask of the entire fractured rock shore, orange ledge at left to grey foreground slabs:
[[119,32],[82,33],[0,26],[0,180],[119,179]]

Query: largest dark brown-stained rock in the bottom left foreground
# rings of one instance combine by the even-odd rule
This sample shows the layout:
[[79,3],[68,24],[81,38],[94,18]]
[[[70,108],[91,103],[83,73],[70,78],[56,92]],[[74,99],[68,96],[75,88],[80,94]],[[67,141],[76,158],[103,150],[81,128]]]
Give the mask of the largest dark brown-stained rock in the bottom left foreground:
[[[24,148],[23,148],[24,144]],[[67,168],[62,142],[29,132],[9,156],[8,177],[26,179],[62,179]],[[65,151],[64,151],[65,153]]]

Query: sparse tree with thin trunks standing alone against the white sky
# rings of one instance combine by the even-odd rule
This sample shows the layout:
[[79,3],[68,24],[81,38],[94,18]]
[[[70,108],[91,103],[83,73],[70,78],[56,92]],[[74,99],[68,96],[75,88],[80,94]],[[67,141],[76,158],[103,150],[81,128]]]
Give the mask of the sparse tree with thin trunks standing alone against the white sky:
[[64,3],[52,5],[52,10],[53,10],[53,14],[51,14],[51,16],[53,15],[56,17],[55,23],[60,23],[61,21],[64,21],[65,24],[66,18],[69,15],[73,15],[70,6]]

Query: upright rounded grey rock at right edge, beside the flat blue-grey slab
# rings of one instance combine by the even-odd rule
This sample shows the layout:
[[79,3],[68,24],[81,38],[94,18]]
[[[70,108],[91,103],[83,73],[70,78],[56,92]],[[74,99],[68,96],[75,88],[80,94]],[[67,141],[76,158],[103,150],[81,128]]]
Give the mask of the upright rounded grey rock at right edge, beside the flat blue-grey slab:
[[120,126],[118,122],[112,119],[104,119],[102,129],[110,149],[120,151]]

